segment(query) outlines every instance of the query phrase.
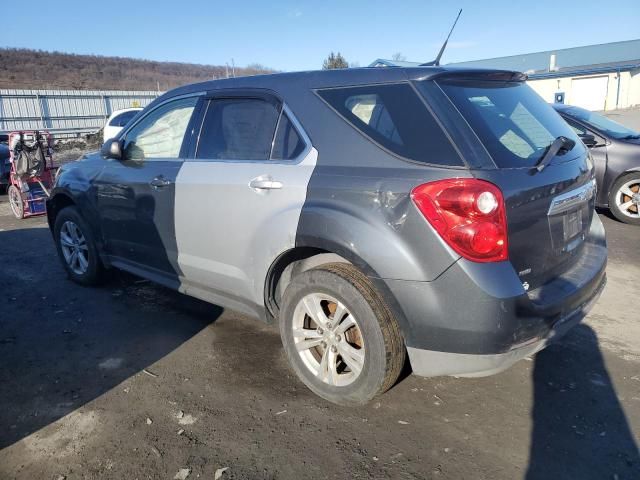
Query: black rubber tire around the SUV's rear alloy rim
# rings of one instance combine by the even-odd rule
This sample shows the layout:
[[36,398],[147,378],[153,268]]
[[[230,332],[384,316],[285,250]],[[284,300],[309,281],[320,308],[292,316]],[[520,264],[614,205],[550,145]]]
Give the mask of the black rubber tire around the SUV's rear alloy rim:
[[[311,371],[298,353],[293,333],[294,314],[302,299],[310,294],[335,298],[357,319],[364,362],[359,374],[348,385],[326,383],[319,378],[319,373]],[[329,316],[334,314],[335,311],[330,312]],[[309,321],[308,315],[304,318]],[[335,325],[340,321],[338,319]],[[289,362],[302,382],[320,397],[339,405],[361,405],[391,388],[406,359],[400,328],[384,300],[364,274],[344,263],[322,265],[292,279],[283,296],[280,336]],[[321,357],[322,353],[318,355]],[[339,353],[335,355],[341,358]]]

